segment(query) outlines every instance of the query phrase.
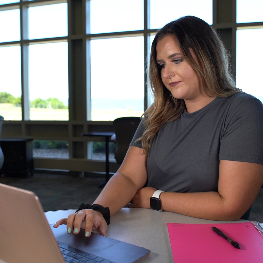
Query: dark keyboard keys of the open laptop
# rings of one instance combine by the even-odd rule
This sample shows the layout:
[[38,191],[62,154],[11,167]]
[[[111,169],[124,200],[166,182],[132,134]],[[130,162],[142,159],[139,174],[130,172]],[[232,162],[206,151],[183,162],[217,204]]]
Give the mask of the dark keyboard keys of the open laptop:
[[74,247],[71,247],[69,245],[63,244],[61,242],[58,242],[59,249],[62,253],[62,256],[64,257],[65,262],[69,263],[114,263],[112,261],[103,259],[102,257],[98,257],[92,254],[89,254],[88,252],[76,249]]

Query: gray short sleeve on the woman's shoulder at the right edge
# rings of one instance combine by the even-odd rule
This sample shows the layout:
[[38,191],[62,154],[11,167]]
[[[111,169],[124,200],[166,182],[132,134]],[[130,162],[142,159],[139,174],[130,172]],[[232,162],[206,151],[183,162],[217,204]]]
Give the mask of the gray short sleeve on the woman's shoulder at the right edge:
[[252,96],[235,100],[222,127],[220,160],[263,164],[263,105]]

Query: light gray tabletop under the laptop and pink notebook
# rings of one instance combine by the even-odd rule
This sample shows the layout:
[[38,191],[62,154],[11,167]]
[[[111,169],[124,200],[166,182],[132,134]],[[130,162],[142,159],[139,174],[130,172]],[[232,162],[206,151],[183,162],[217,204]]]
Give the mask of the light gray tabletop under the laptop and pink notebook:
[[[51,211],[45,212],[45,216],[48,223],[53,224],[58,219],[67,217],[74,212],[75,209]],[[111,217],[107,235],[114,239],[150,249],[150,255],[142,261],[144,263],[173,262],[167,223],[211,224],[235,222],[247,222],[247,220],[213,221],[166,211],[159,212],[144,208],[123,208]],[[5,262],[0,259],[0,263]]]

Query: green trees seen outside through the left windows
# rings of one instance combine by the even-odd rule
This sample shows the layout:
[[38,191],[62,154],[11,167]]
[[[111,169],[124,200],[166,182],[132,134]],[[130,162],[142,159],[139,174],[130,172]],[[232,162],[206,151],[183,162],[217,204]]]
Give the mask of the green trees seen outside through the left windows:
[[[15,106],[21,106],[21,96],[14,97],[8,92],[0,92],[0,103],[10,103]],[[31,108],[52,108],[52,109],[67,109],[68,106],[64,105],[58,98],[48,98],[46,100],[36,98],[30,102]]]

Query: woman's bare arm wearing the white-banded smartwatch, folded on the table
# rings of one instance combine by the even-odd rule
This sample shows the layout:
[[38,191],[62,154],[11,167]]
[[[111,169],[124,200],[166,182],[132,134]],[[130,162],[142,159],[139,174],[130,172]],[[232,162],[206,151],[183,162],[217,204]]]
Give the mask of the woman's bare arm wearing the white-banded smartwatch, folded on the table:
[[[252,205],[263,182],[263,165],[220,160],[218,192],[160,195],[161,209],[196,218],[237,220]],[[131,207],[150,207],[154,188],[137,191]]]

